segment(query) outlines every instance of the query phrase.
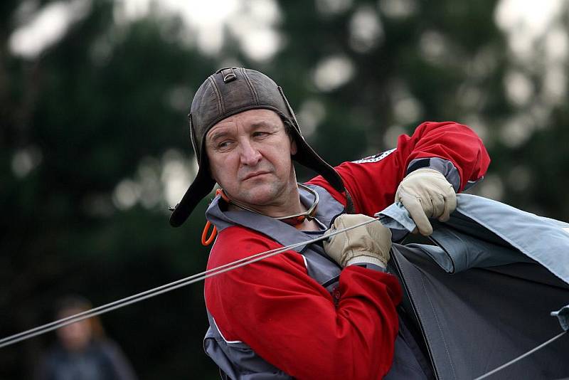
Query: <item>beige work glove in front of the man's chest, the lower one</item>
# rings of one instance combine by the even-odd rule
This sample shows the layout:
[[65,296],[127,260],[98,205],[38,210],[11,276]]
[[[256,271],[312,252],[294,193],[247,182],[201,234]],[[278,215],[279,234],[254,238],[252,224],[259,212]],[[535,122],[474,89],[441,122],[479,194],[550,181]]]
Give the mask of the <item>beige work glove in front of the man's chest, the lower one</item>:
[[[370,219],[373,218],[361,213],[344,213],[334,220],[334,225],[326,231],[326,235]],[[324,241],[324,250],[342,268],[356,263],[371,263],[385,268],[390,249],[391,231],[380,221],[338,233]]]

